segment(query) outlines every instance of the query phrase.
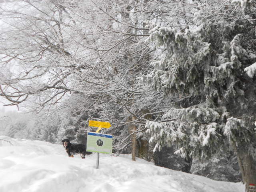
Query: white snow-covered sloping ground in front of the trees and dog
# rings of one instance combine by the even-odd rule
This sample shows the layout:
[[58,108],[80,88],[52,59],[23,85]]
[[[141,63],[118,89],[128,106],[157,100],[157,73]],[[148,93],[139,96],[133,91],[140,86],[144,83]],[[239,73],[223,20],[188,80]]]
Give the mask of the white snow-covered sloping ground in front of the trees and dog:
[[241,183],[154,166],[130,155],[69,158],[62,145],[12,139],[0,146],[0,192],[244,192]]

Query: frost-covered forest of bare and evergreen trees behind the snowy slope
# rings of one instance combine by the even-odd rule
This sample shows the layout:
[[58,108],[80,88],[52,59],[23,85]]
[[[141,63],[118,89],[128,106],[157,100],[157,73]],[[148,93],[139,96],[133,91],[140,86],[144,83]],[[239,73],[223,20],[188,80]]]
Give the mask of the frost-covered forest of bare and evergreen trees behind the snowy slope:
[[[256,184],[255,0],[4,0],[0,134]],[[134,156],[135,157],[135,156]]]

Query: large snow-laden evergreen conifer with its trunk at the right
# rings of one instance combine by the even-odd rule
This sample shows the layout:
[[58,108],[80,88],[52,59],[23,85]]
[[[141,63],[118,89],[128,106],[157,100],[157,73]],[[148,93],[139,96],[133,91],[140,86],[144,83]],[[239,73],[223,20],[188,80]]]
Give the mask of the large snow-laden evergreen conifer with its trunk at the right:
[[248,15],[255,1],[234,3],[241,6],[243,17],[230,5],[216,12],[227,15],[220,20],[208,10],[196,12],[196,26],[184,31],[151,24],[148,40],[163,51],[152,61],[154,70],[146,82],[166,98],[200,100],[186,108],[173,105],[164,117],[175,121],[147,122],[146,127],[155,149],[175,144],[176,153],[184,157],[207,159],[226,152],[228,144],[238,156],[248,190],[248,184],[256,184],[256,84],[253,70],[245,70],[255,63],[255,14]]

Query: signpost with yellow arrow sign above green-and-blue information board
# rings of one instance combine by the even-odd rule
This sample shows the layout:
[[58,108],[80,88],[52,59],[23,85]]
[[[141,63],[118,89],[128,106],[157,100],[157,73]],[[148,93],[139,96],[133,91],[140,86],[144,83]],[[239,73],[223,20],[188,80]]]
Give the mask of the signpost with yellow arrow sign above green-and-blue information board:
[[98,127],[96,132],[87,132],[87,144],[86,151],[96,152],[97,161],[96,169],[99,168],[100,153],[112,154],[112,142],[113,136],[109,134],[99,133],[102,128],[110,128],[109,122],[91,121],[89,120],[89,126]]

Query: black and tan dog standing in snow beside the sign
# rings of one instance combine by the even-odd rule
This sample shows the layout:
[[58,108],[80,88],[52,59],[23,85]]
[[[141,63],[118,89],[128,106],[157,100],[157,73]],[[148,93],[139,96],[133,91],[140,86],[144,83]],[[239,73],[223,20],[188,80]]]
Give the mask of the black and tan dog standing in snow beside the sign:
[[61,142],[63,147],[66,148],[69,157],[74,157],[74,154],[80,153],[82,159],[85,159],[85,155],[92,154],[92,152],[86,152],[86,145],[72,144],[68,139],[64,139]]

